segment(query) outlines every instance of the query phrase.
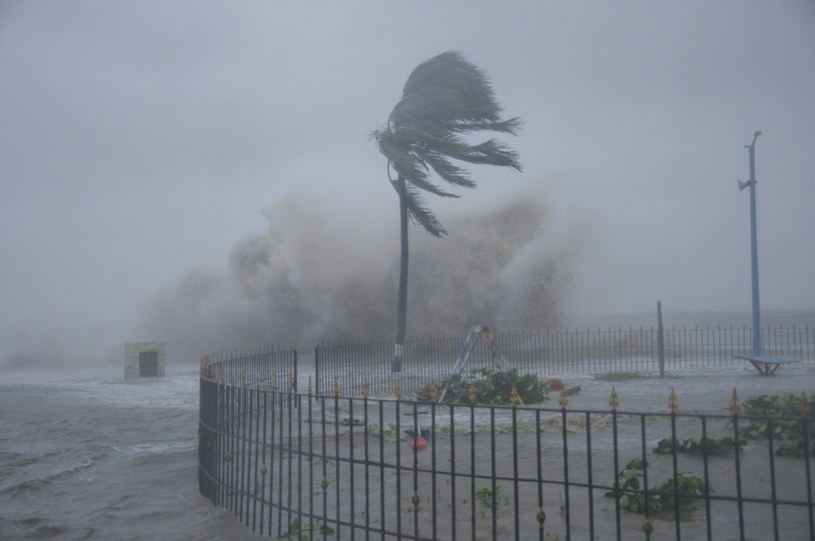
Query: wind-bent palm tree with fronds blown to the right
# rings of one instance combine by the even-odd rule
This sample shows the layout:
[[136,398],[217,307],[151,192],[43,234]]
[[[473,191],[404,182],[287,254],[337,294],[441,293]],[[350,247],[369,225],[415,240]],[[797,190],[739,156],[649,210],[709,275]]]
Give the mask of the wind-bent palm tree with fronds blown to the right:
[[373,134],[379,151],[388,159],[388,179],[399,194],[402,250],[394,372],[401,370],[407,329],[408,220],[434,237],[447,234],[421,191],[458,197],[431,182],[431,171],[453,186],[475,188],[467,171],[453,160],[521,170],[518,154],[505,144],[495,139],[468,142],[472,133],[480,131],[515,135],[520,118],[502,120],[501,111],[484,72],[460,53],[447,51],[413,70],[387,125]]

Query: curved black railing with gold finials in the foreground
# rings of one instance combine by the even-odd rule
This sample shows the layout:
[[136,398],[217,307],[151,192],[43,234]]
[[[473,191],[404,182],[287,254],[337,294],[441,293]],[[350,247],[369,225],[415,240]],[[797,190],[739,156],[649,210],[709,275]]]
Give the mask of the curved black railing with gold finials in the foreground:
[[[743,414],[735,393],[729,415],[681,413],[673,395],[668,413],[622,411],[615,391],[605,411],[565,394],[559,407],[435,404],[400,386],[346,396],[338,380],[328,396],[296,392],[296,353],[240,357],[202,361],[199,486],[261,535],[815,539],[803,393],[794,417]],[[766,437],[744,446],[755,426]],[[799,456],[779,450],[790,426]]]

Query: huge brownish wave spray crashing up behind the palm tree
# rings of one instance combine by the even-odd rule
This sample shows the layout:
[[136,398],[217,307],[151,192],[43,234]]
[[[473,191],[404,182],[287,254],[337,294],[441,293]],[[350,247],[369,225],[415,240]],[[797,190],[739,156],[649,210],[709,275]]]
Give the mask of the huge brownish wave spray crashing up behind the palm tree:
[[[447,214],[443,239],[412,227],[408,335],[557,325],[573,279],[569,253],[580,250],[585,232],[556,239],[549,214],[540,198],[519,194]],[[157,292],[139,333],[193,360],[266,344],[393,339],[397,216],[385,223],[342,217],[304,196],[284,198],[264,215],[266,231],[239,240],[222,272],[191,270]]]

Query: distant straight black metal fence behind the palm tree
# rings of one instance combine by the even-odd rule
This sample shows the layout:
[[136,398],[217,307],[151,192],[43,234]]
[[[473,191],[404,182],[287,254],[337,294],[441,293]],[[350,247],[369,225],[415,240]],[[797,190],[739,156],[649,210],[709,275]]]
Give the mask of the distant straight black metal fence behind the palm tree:
[[[656,328],[496,333],[495,342],[511,368],[522,373],[600,374],[660,370],[660,331]],[[393,343],[323,343],[315,350],[314,392],[330,395],[335,382],[349,394],[362,390],[364,374],[369,385],[405,392],[448,376],[458,357],[462,337],[408,340],[401,372],[391,372]],[[785,355],[803,362],[815,361],[815,328],[764,327],[765,355]],[[743,365],[736,355],[752,351],[752,330],[747,327],[672,328],[662,331],[664,369],[691,370],[702,366]],[[479,347],[468,368],[491,367],[489,348]]]

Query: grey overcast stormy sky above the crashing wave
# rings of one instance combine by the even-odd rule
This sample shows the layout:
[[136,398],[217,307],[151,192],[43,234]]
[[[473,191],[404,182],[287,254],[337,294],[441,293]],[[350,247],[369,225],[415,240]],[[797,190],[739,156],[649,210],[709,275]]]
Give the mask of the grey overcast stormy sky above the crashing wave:
[[0,0],[0,326],[123,325],[288,197],[395,222],[369,134],[450,49],[524,119],[524,171],[443,221],[534,193],[591,231],[575,311],[749,310],[760,129],[762,307],[815,309],[812,1]]

